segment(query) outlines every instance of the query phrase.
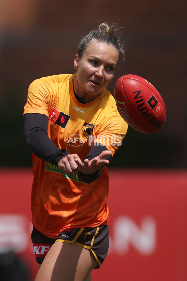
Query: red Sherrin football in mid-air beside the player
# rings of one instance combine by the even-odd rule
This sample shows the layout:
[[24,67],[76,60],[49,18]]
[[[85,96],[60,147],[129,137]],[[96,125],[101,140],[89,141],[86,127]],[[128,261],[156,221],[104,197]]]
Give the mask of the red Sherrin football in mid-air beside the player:
[[144,134],[155,134],[164,126],[164,101],[146,79],[130,74],[121,76],[114,96],[120,115],[132,128]]

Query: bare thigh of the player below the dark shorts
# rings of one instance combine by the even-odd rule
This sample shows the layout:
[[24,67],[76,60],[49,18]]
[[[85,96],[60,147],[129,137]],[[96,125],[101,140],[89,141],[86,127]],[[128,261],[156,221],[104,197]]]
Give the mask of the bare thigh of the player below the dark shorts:
[[92,252],[75,244],[55,242],[46,255],[35,281],[86,281],[97,266]]

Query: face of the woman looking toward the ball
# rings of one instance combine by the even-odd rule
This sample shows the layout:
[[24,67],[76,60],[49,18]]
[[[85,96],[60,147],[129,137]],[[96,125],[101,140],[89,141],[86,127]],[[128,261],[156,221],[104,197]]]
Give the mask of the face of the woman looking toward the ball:
[[82,102],[90,102],[101,95],[113,79],[118,60],[115,47],[97,41],[88,45],[81,58],[76,54],[74,91]]

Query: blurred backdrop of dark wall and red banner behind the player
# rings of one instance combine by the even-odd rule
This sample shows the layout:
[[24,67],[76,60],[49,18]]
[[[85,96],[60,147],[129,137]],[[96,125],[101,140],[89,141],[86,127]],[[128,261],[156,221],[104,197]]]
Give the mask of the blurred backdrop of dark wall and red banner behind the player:
[[[15,241],[8,249],[29,260],[31,280],[37,269],[32,265],[33,254],[30,258],[32,163],[22,117],[27,90],[37,78],[74,73],[73,61],[79,40],[101,22],[113,22],[122,27],[126,49],[125,64],[116,71],[108,90],[114,94],[115,82],[122,75],[142,76],[160,92],[167,113],[165,126],[155,135],[144,135],[129,127],[122,146],[108,166],[111,182],[122,188],[121,206],[125,206],[121,211],[113,206],[112,196],[115,197],[116,192],[111,186],[111,229],[113,226],[116,229],[117,218],[123,216],[123,229],[126,233],[129,230],[129,239],[133,231],[137,237],[147,233],[153,236],[150,236],[150,252],[129,240],[132,249],[119,253],[113,242],[115,233],[111,230],[112,254],[109,254],[109,266],[106,262],[101,269],[103,278],[106,271],[113,268],[114,256],[122,264],[119,269],[115,267],[119,277],[111,277],[109,272],[109,281],[187,280],[187,229],[184,226],[187,218],[186,7],[186,0],[0,0],[0,249],[7,241],[12,241],[11,233],[16,233],[20,244],[26,241],[23,249],[17,249]],[[139,168],[144,170],[143,174]],[[116,178],[118,171],[121,173]],[[126,180],[128,196],[122,194]],[[149,244],[148,238],[146,241]],[[6,264],[15,261],[12,252],[7,251],[6,259],[5,253],[2,251],[0,257],[0,275],[2,269],[5,270],[3,260],[7,260]],[[134,268],[134,261],[141,268]],[[123,263],[128,269],[123,268]],[[124,272],[120,276],[122,268]],[[8,276],[3,280],[11,279]],[[23,277],[23,280],[30,279]]]

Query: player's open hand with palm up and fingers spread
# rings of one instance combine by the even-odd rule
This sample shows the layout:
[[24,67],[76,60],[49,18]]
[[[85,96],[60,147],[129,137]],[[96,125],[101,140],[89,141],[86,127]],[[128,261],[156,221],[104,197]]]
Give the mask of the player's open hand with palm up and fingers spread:
[[92,160],[85,159],[84,163],[80,160],[80,158],[75,158],[74,161],[78,166],[78,170],[82,172],[84,175],[90,175],[100,169],[102,165],[108,164],[109,161],[103,159],[107,155],[111,155],[112,151],[104,150],[101,152],[99,156],[96,156]]

